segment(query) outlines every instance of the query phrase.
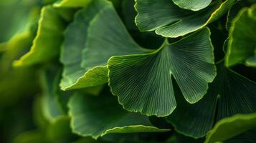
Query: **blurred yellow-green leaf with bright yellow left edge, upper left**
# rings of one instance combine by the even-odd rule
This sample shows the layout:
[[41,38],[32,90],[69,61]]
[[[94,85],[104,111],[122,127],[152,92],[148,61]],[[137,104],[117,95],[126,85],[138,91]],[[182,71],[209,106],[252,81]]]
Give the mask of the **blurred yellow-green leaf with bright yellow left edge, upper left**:
[[[27,54],[14,61],[14,66],[27,66],[48,61],[60,52],[63,31],[72,18],[72,10],[44,6],[39,19],[37,36]],[[47,41],[47,42],[45,42]]]

